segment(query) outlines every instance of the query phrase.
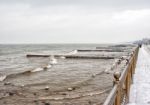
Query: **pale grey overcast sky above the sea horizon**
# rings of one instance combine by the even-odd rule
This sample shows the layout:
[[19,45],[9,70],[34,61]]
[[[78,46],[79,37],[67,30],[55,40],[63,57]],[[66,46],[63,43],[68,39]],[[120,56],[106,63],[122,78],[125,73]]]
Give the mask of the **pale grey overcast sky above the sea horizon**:
[[116,43],[150,37],[150,0],[0,0],[0,43]]

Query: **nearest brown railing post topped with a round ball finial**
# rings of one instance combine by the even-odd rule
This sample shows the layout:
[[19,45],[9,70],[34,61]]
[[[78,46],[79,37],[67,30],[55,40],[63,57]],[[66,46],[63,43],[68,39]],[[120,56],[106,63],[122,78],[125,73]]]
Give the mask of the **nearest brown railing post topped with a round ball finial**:
[[121,87],[120,87],[120,83],[119,83],[120,76],[121,76],[120,72],[115,72],[114,73],[114,78],[115,78],[114,83],[118,85],[117,94],[116,94],[116,99],[115,99],[114,105],[121,105]]

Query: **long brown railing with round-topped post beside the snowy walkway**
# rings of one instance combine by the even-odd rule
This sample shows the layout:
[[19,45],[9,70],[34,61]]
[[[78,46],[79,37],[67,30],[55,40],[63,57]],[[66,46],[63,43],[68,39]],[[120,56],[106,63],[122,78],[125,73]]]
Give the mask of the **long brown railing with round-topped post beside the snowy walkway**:
[[132,83],[133,74],[135,73],[138,52],[139,46],[132,52],[128,64],[123,71],[121,73],[114,73],[114,86],[103,105],[121,105],[123,100],[128,103],[130,86]]

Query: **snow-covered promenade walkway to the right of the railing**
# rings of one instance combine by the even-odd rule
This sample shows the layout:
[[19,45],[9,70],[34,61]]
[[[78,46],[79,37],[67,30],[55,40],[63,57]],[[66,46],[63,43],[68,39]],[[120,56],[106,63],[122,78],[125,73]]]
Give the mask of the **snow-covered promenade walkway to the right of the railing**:
[[150,53],[140,48],[128,105],[150,105]]

